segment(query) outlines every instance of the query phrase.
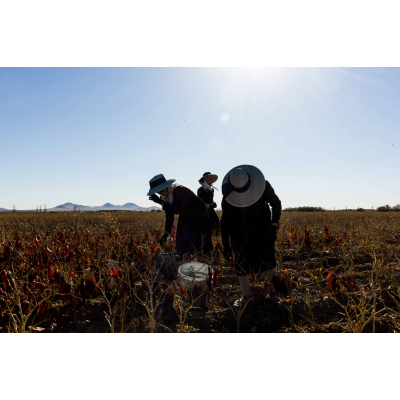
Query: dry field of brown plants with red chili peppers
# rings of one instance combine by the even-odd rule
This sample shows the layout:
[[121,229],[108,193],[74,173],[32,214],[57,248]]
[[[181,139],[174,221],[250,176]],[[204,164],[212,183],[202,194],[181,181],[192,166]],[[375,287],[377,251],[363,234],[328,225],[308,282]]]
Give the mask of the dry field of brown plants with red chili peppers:
[[[281,302],[251,276],[236,309],[232,260],[214,237],[208,310],[155,262],[162,212],[1,213],[0,332],[398,332],[400,213],[283,213]],[[109,260],[115,260],[109,264]]]

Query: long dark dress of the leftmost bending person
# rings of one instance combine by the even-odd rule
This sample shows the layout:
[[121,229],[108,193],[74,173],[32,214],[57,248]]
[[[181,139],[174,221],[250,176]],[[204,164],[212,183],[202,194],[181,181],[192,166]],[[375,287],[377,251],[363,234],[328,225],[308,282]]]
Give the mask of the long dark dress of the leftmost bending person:
[[176,230],[176,250],[184,257],[212,250],[211,225],[207,207],[189,188],[178,185],[173,191],[172,204],[163,203],[166,214],[165,231],[171,233],[174,214],[179,215]]

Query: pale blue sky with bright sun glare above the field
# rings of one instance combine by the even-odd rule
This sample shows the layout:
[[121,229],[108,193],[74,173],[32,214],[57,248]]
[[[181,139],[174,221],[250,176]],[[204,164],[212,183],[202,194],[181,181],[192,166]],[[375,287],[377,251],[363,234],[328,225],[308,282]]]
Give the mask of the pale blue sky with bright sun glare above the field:
[[241,164],[283,208],[395,205],[399,94],[399,68],[0,68],[0,208],[148,207],[157,174]]

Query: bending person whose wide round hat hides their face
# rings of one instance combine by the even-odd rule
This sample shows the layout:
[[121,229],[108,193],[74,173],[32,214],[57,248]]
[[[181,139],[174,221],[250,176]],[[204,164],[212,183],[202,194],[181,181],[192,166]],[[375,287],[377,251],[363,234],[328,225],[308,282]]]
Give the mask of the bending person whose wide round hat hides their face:
[[[270,298],[279,301],[271,282],[277,272],[275,241],[281,201],[262,172],[251,165],[239,165],[226,174],[222,195],[224,255],[232,255],[230,239],[243,293],[239,302],[247,302],[251,298],[248,275],[262,271],[266,272],[269,281]],[[272,206],[272,218],[269,204]]]

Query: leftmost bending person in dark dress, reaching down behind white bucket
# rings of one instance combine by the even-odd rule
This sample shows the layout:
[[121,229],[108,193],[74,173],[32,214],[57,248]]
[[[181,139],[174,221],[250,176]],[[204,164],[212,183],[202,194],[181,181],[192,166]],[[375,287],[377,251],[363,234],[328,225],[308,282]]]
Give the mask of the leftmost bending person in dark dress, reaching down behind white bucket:
[[[165,233],[160,244],[164,245],[174,224],[174,215],[179,215],[176,230],[176,250],[180,257],[196,253],[207,254],[212,250],[211,226],[207,208],[189,188],[173,184],[175,179],[166,180],[156,175],[150,181],[147,194],[150,200],[161,204],[166,214]],[[158,193],[161,197],[158,197]]]

